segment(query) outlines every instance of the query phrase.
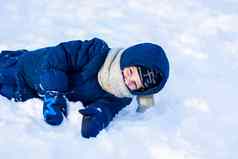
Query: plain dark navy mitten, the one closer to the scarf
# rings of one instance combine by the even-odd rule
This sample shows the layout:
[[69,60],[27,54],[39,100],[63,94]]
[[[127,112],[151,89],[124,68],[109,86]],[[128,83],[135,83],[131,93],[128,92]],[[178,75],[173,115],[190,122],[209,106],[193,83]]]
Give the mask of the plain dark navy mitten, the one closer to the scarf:
[[99,107],[87,107],[79,112],[83,115],[81,133],[85,138],[96,137],[108,124],[106,114]]

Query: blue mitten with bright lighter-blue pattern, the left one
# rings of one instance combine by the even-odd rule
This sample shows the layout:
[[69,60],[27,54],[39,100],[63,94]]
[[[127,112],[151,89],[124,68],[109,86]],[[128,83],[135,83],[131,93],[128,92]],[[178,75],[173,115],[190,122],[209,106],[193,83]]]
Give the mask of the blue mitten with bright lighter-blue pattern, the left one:
[[59,125],[67,117],[67,103],[62,93],[48,91],[44,96],[43,115],[50,125]]

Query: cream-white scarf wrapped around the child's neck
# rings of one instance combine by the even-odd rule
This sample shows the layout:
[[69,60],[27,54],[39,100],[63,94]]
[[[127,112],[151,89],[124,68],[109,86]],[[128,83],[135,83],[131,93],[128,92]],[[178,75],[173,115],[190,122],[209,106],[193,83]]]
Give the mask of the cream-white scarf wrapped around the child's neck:
[[116,97],[133,97],[126,87],[122,70],[120,68],[121,55],[126,49],[110,49],[103,66],[98,72],[98,81],[100,86],[107,92]]

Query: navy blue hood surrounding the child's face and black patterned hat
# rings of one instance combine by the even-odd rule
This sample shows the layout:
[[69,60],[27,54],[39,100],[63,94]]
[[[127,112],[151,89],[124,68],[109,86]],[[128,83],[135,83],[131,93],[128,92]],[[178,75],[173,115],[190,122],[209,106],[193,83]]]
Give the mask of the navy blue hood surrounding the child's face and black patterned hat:
[[123,70],[129,66],[144,66],[159,70],[162,81],[159,85],[141,91],[131,91],[133,95],[151,95],[158,93],[165,85],[169,77],[169,62],[162,47],[152,43],[141,43],[124,50],[120,59],[120,68]]

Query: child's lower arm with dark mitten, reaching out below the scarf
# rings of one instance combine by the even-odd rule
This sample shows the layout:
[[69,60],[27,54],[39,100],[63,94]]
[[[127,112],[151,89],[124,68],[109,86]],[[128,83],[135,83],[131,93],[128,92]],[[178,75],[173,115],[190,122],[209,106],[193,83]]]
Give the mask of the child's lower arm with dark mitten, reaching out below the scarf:
[[79,110],[83,115],[81,134],[83,137],[96,137],[106,128],[115,115],[131,103],[131,98],[100,99],[85,109]]

